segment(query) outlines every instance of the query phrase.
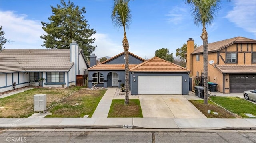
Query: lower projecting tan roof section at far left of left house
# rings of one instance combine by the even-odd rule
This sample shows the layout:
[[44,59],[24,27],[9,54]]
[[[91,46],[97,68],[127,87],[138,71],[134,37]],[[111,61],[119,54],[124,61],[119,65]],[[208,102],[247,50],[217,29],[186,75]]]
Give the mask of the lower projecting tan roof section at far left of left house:
[[0,57],[0,67],[0,73],[26,71],[16,58],[11,57]]

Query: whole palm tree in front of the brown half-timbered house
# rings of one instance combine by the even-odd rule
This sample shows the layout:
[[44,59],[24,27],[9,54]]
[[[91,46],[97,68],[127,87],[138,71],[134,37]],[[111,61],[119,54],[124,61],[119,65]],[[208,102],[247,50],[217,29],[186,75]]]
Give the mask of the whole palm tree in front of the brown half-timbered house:
[[205,26],[211,25],[220,7],[220,0],[186,0],[192,9],[194,23],[203,26],[201,39],[203,40],[204,55],[204,104],[208,104],[208,33]]

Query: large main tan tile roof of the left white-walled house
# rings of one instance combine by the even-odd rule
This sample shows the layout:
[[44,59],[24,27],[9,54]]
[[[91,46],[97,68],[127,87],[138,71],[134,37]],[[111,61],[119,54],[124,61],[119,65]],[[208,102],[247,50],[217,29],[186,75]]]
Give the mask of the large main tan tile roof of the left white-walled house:
[[[0,52],[1,58],[16,59],[26,71],[69,71],[74,63],[70,62],[70,49],[4,49]],[[9,61],[1,62],[2,70],[12,72],[13,69],[5,69]],[[3,68],[3,69],[2,69]]]

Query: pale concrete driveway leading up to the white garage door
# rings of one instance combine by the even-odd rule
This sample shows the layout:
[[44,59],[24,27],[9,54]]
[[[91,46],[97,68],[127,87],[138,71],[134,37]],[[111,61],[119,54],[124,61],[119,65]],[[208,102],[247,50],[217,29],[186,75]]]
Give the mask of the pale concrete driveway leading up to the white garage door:
[[182,95],[139,95],[144,118],[207,118]]

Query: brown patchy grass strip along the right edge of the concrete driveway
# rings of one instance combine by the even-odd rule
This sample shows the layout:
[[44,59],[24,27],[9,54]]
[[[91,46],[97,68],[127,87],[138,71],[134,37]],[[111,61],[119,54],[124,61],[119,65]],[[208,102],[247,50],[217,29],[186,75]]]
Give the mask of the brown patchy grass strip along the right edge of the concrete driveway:
[[[230,112],[224,110],[222,107],[214,104],[208,100],[208,104],[204,104],[204,100],[189,100],[198,110],[202,112],[207,118],[237,118]],[[211,113],[208,114],[208,110],[211,110]],[[214,114],[213,112],[217,112]]]

